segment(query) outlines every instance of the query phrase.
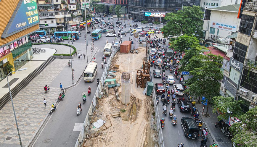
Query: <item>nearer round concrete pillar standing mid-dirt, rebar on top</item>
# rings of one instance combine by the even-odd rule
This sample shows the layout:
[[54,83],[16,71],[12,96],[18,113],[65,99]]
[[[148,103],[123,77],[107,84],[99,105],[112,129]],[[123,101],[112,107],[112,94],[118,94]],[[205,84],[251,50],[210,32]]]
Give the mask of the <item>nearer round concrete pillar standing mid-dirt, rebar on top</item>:
[[123,72],[121,75],[121,103],[130,103],[130,74]]

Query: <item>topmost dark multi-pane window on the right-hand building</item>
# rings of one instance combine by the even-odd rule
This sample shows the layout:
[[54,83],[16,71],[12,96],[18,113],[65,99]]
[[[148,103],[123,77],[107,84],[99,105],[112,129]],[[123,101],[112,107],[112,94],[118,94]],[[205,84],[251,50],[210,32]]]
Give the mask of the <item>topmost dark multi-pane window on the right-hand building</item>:
[[242,14],[239,25],[239,32],[250,36],[253,29],[254,16]]

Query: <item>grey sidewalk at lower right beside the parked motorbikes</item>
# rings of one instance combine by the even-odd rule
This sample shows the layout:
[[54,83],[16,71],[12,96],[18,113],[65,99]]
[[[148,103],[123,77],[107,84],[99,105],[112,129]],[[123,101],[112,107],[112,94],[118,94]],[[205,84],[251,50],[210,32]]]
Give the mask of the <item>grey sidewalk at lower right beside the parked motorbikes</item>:
[[[207,127],[208,129],[208,142],[207,145],[210,145],[213,143],[213,141],[217,142],[217,144],[219,145],[219,147],[231,147],[232,143],[231,140],[228,139],[220,130],[219,127],[215,127],[215,123],[219,122],[219,120],[217,119],[217,114],[212,112],[212,105],[209,104],[209,109],[208,109],[208,114],[210,115],[210,117],[205,117],[206,114],[206,110],[207,107],[205,106],[205,112],[203,113],[203,104],[197,104],[196,103],[196,107],[197,107],[197,111],[199,112],[199,116],[200,119],[203,120],[204,125]],[[203,113],[203,114],[202,114]],[[213,141],[212,141],[213,139]],[[212,142],[210,142],[212,141]]]

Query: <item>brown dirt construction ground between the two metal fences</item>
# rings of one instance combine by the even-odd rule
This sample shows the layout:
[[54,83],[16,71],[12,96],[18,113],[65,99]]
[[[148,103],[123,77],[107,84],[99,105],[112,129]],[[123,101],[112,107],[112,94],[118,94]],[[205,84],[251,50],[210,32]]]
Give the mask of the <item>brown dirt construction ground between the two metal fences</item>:
[[[109,88],[109,96],[104,96],[98,101],[97,110],[94,112],[91,122],[102,119],[106,123],[98,131],[89,130],[89,137],[84,140],[84,147],[158,146],[158,136],[155,131],[156,123],[152,116],[151,98],[142,94],[144,88],[136,87],[136,70],[142,69],[145,51],[144,47],[139,47],[138,54],[121,54],[118,52],[114,56],[113,65],[120,65],[117,72],[114,73],[117,75],[115,77],[116,82],[121,84],[122,72],[131,73],[130,104],[121,104],[121,101],[116,99],[115,89]],[[121,87],[118,90],[121,99]],[[121,117],[113,118],[110,115],[116,112],[120,112]],[[110,119],[106,117],[107,115],[109,115]]]

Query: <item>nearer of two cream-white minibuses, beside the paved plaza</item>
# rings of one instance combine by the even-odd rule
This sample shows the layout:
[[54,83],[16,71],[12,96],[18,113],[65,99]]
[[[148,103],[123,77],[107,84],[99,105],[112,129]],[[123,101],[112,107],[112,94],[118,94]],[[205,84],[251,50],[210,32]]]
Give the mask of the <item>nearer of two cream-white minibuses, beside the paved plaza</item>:
[[94,78],[97,74],[97,63],[96,62],[90,62],[86,70],[84,71],[84,82],[93,82]]

